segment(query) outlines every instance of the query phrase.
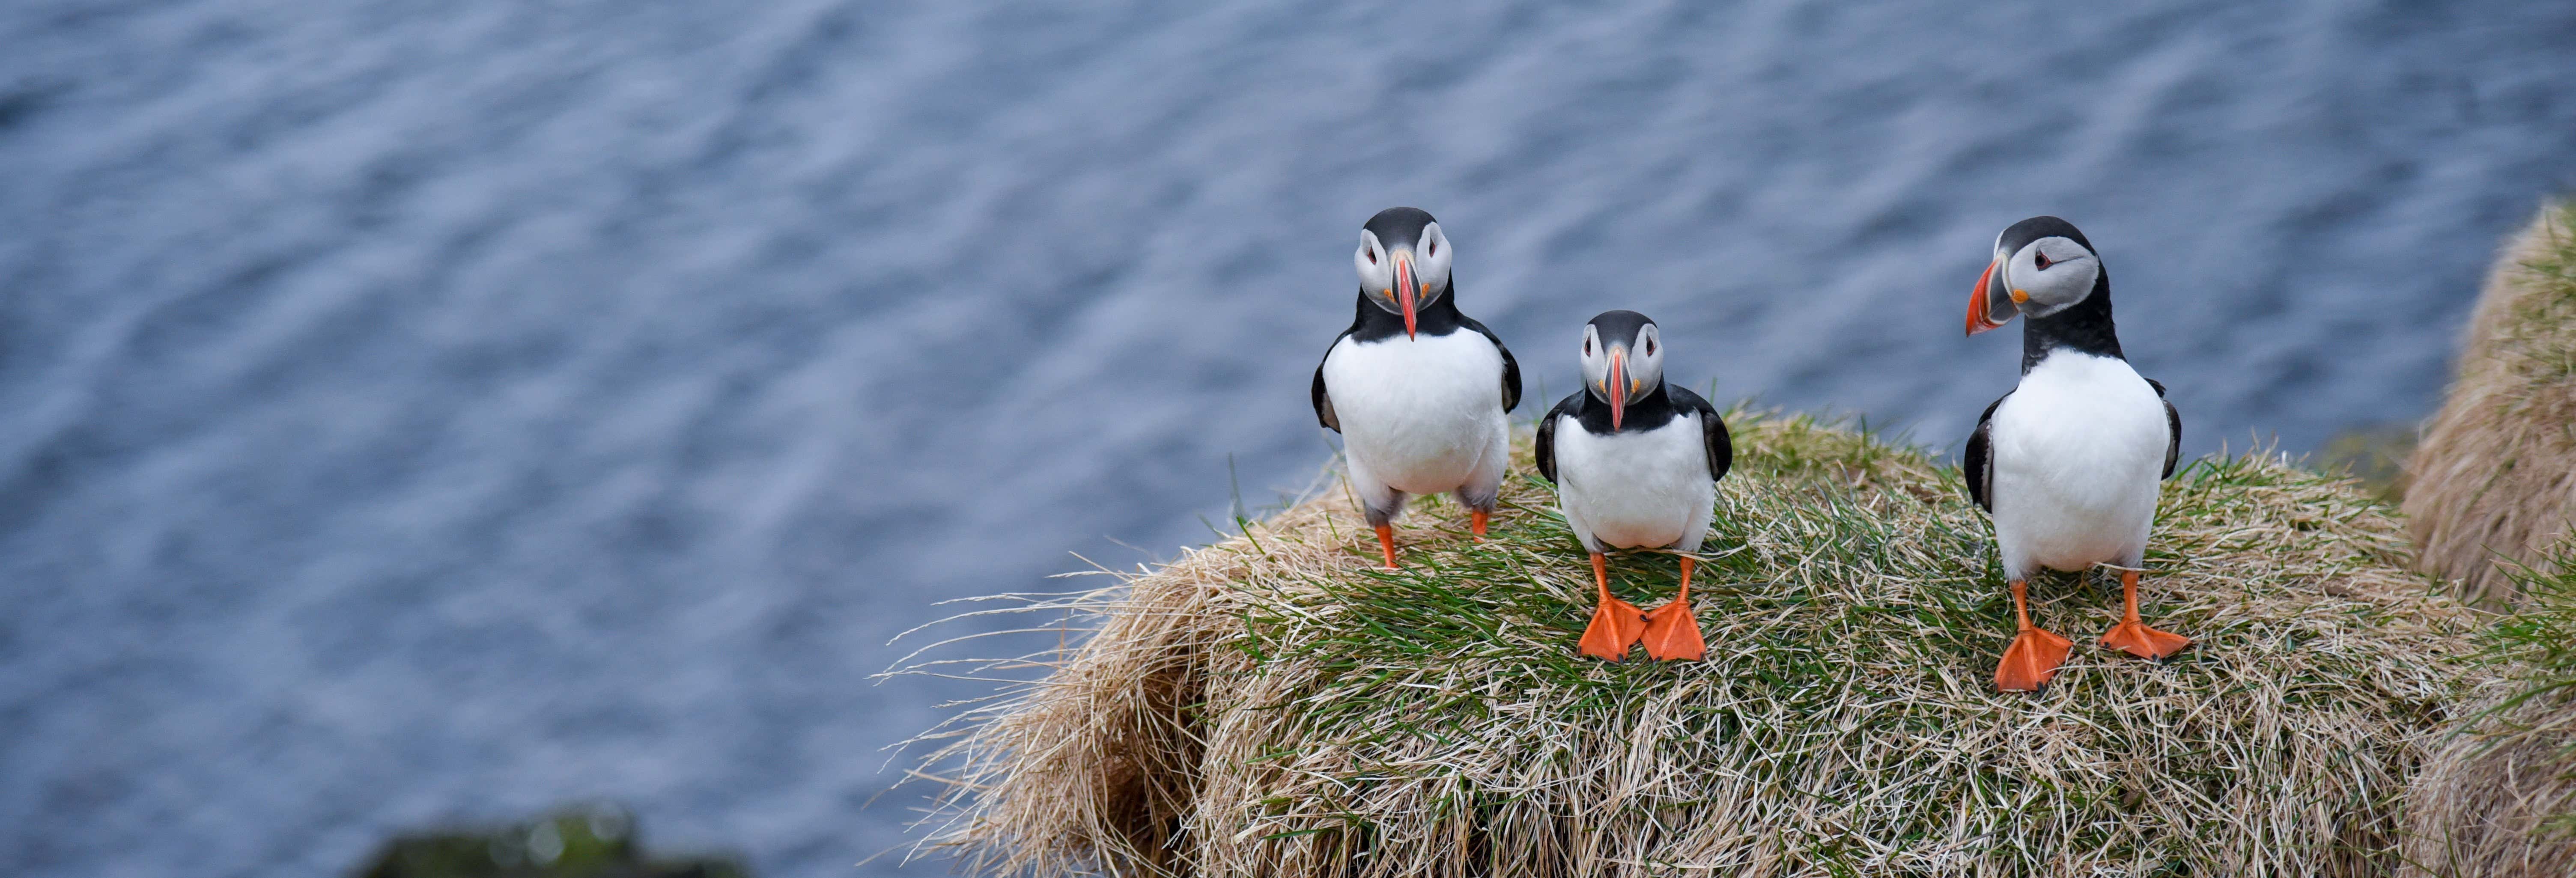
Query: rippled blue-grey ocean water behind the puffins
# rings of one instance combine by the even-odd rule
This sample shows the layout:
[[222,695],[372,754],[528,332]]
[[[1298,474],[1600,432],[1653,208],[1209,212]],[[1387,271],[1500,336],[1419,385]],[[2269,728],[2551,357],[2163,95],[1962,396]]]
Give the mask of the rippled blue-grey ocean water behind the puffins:
[[[945,873],[873,682],[1327,443],[1360,221],[1535,386],[1955,448],[1994,232],[2102,247],[2187,451],[2432,409],[2576,188],[2568,3],[0,5],[0,873],[327,875],[564,798]],[[1525,409],[1520,415],[1533,415]]]

